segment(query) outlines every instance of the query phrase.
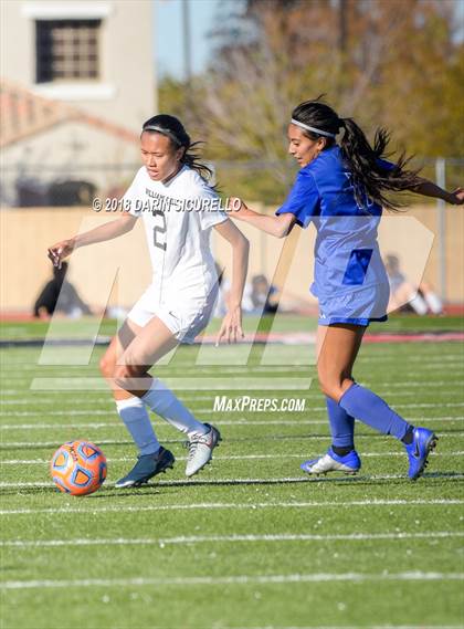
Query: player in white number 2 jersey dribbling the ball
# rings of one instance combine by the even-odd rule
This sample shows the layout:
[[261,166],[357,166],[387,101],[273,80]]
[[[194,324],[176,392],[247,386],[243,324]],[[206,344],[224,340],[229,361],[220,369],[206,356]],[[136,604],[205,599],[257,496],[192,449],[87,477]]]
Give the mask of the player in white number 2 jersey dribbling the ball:
[[147,408],[188,436],[187,476],[211,460],[221,439],[217,428],[196,419],[148,373],[180,342],[192,343],[210,319],[218,293],[211,229],[229,241],[233,253],[228,312],[218,342],[224,336],[229,342],[243,336],[241,302],[249,242],[221,210],[220,199],[207,181],[210,169],[199,160],[183,125],[173,116],[161,114],[147,120],[140,149],[144,166],[123,199],[127,212],[49,249],[49,256],[60,265],[78,247],[127,233],[139,217],[145,224],[152,282],[101,360],[118,413],[139,450],[137,463],[117,481],[117,488],[139,486],[175,462],[172,453],[158,442]]

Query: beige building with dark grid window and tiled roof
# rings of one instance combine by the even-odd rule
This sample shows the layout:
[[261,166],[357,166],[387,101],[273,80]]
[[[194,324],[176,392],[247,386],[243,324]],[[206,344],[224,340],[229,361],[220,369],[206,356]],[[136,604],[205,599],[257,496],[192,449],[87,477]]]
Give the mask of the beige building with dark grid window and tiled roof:
[[151,0],[0,8],[2,205],[34,195],[46,203],[50,186],[64,182],[99,193],[124,187],[157,107]]

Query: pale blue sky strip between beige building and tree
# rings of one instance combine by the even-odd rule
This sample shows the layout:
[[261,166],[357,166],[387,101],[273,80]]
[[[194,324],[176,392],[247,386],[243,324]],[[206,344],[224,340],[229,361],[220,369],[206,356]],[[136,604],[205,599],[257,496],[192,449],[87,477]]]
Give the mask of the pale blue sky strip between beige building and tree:
[[[207,33],[221,0],[189,0],[193,73],[204,70],[210,54]],[[155,59],[158,76],[183,77],[182,0],[154,0]]]

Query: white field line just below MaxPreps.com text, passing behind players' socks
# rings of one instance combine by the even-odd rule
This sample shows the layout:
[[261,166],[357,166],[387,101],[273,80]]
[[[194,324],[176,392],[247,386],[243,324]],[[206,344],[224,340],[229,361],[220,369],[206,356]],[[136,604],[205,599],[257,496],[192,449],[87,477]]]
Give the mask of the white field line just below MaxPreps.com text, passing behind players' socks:
[[[420,421],[431,421],[434,423],[446,423],[449,421],[464,421],[464,417],[422,417],[418,418]],[[414,422],[415,419],[410,419],[409,421]],[[325,426],[328,424],[327,419],[271,419],[264,421],[249,420],[244,417],[233,419],[233,420],[222,420],[219,419],[219,426]],[[161,424],[164,426],[164,424]],[[166,428],[168,424],[164,426]],[[86,421],[80,423],[6,423],[0,424],[0,430],[65,430],[67,428],[85,428],[86,430],[98,430],[101,428],[117,428],[124,429],[123,423],[115,421]],[[159,424],[158,424],[159,428]],[[4,443],[4,442],[2,442]]]

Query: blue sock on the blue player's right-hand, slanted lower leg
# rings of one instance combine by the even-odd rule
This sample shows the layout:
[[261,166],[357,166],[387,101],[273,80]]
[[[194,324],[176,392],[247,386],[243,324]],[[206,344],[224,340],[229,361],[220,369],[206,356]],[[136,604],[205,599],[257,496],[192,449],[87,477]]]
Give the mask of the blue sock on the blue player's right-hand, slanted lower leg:
[[338,403],[349,415],[383,434],[393,434],[397,439],[402,439],[410,429],[410,424],[382,398],[360,385],[352,385],[347,389]]

